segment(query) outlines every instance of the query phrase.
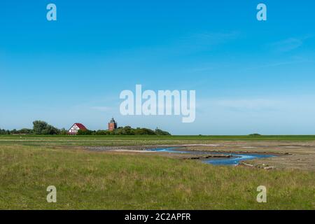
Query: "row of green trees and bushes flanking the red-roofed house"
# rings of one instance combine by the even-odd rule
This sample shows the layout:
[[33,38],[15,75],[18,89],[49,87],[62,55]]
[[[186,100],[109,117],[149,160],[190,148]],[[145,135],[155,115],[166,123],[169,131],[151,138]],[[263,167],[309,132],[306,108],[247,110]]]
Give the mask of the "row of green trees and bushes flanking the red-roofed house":
[[[58,129],[52,125],[49,125],[45,121],[35,120],[33,122],[33,129],[22,128],[21,130],[4,130],[0,128],[0,134],[68,134],[68,131],[64,128]],[[165,132],[156,128],[151,130],[148,128],[132,128],[130,126],[118,127],[116,130],[79,130],[78,135],[171,135],[169,132]]]

